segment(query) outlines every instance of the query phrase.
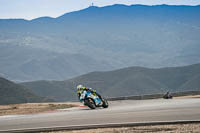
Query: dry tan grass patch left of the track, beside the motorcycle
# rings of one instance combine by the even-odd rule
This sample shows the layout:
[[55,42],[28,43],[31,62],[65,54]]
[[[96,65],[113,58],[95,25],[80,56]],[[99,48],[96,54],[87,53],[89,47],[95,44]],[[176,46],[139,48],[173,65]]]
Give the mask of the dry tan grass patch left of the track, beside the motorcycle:
[[75,104],[58,104],[58,103],[27,103],[0,105],[0,116],[2,115],[18,115],[18,114],[33,114],[56,109],[64,109],[75,107]]

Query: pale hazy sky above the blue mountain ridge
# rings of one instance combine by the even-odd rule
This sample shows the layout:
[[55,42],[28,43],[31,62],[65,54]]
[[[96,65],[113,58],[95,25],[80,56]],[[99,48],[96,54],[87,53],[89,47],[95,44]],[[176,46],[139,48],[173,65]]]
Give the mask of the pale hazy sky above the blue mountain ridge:
[[58,17],[66,12],[113,4],[200,5],[200,0],[0,0],[0,18]]

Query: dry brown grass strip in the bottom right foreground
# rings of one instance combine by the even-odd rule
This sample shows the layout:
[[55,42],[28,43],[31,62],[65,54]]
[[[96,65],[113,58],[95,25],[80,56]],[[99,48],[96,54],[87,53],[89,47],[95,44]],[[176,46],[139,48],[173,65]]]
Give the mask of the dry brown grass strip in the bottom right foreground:
[[199,133],[199,132],[200,132],[200,124],[175,124],[175,125],[136,126],[136,127],[122,127],[122,128],[58,131],[50,133]]

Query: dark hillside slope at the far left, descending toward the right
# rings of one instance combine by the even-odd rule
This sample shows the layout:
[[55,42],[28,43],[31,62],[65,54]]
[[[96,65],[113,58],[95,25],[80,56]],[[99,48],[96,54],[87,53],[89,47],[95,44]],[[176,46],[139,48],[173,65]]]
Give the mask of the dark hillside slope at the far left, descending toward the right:
[[0,105],[48,101],[53,100],[37,96],[30,89],[0,77]]

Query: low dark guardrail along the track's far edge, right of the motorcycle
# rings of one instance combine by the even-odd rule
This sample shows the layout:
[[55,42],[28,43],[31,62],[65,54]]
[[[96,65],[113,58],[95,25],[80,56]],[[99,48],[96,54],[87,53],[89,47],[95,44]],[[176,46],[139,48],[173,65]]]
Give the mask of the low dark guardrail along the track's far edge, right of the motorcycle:
[[[152,94],[152,95],[141,95],[141,96],[121,96],[121,97],[110,97],[107,98],[109,101],[116,100],[146,100],[146,99],[157,99],[163,98],[164,94]],[[185,91],[185,92],[174,92],[171,93],[173,97],[188,96],[188,95],[200,95],[200,91]]]

